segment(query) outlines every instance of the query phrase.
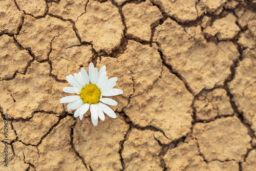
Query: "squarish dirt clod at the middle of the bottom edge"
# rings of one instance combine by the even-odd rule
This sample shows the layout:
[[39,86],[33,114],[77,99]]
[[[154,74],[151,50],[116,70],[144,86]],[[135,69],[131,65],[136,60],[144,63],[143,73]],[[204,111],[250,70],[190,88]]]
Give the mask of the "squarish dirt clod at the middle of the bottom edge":
[[125,170],[162,170],[159,154],[162,147],[150,130],[132,130],[123,143],[122,157]]

